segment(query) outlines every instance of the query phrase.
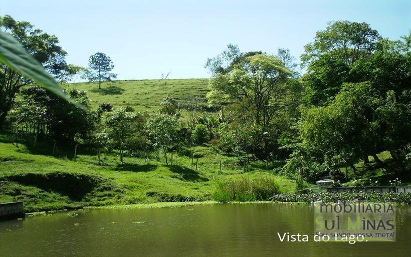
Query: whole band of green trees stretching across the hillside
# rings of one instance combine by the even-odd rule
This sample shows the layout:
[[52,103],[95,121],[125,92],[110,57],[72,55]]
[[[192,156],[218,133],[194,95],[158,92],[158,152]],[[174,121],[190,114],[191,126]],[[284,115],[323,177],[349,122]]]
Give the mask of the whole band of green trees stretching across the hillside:
[[[0,27],[60,81],[81,70],[99,81],[99,87],[116,77],[104,53],[92,55],[89,69],[84,69],[65,62],[67,53],[56,36],[7,15]],[[328,173],[347,176],[348,168],[357,172],[354,164],[366,164],[368,155],[379,167],[391,165],[403,172],[409,168],[410,45],[410,33],[389,40],[365,22],[345,20],[318,31],[305,45],[300,63],[288,49],[241,52],[229,44],[205,64],[212,74],[207,98],[220,110],[214,114],[195,100],[171,97],[154,113],[115,108],[109,102],[85,110],[2,65],[0,126],[9,116],[36,134],[90,143],[99,161],[102,150],[118,151],[121,162],[124,156],[148,158],[161,150],[168,164],[167,153],[192,156],[191,146],[205,144],[244,163],[282,160],[281,172],[308,180]],[[88,106],[87,92],[70,89],[67,94]],[[188,115],[182,116],[182,109]],[[390,152],[392,163],[378,158],[381,151]]]

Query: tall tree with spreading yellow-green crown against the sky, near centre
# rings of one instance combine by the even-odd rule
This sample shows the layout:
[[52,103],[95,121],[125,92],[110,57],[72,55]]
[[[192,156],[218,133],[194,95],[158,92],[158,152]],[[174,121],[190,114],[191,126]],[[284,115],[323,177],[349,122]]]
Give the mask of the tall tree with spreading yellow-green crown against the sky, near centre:
[[[275,56],[258,52],[239,54],[226,68],[211,64],[214,73],[210,80],[212,90],[208,98],[214,100],[239,101],[249,99],[255,109],[255,122],[263,125],[273,117],[273,105],[282,94],[282,86],[292,72]],[[232,54],[234,55],[234,53]]]

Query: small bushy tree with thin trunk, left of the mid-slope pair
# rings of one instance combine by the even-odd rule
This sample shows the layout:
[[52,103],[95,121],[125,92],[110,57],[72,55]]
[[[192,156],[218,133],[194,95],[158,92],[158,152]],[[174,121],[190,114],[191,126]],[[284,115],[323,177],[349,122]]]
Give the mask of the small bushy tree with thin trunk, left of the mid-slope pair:
[[113,148],[120,151],[120,161],[124,164],[124,151],[128,147],[128,139],[136,132],[137,114],[119,108],[107,112],[104,119],[104,132]]

